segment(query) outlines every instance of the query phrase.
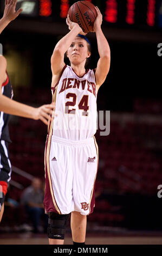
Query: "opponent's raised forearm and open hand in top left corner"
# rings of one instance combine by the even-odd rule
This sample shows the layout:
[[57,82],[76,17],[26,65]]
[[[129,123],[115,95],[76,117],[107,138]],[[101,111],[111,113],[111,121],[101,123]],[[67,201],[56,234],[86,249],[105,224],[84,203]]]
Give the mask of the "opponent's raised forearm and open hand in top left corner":
[[0,20],[0,34],[3,29],[21,13],[22,9],[15,11],[16,3],[17,0],[5,0],[4,14]]

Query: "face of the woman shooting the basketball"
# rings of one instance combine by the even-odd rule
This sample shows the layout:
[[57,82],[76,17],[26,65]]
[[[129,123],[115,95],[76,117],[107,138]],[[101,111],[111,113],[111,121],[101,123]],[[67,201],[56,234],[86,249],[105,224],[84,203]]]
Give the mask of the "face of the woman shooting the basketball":
[[70,63],[73,63],[74,65],[86,62],[86,59],[90,57],[87,41],[76,36],[67,51],[67,57],[69,58]]

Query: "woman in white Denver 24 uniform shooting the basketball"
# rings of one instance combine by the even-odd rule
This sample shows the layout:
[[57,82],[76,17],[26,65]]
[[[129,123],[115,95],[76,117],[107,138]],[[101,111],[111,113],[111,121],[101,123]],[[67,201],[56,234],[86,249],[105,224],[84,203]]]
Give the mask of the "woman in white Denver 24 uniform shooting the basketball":
[[[51,56],[51,90],[59,119],[49,121],[45,150],[46,191],[44,208],[49,215],[50,244],[64,243],[69,214],[74,245],[85,244],[87,215],[94,208],[94,185],[98,169],[96,96],[110,67],[110,48],[101,30],[102,15],[94,32],[99,61],[95,70],[85,70],[90,44],[77,23],[67,17],[70,32],[57,42]],[[82,34],[82,35],[80,35]],[[70,66],[64,63],[64,54]],[[62,115],[62,120],[60,116]],[[60,123],[58,124],[58,120]]]

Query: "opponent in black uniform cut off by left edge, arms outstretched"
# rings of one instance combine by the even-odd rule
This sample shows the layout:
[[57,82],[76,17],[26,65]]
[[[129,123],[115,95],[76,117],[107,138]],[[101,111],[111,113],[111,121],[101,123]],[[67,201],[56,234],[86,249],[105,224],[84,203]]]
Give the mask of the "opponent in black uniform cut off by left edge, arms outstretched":
[[[0,34],[3,29],[14,20],[22,11],[15,11],[17,0],[5,1],[3,18],[0,20]],[[11,179],[11,163],[8,154],[9,137],[9,114],[21,117],[42,120],[48,124],[49,114],[55,108],[54,104],[43,105],[39,108],[30,107],[11,100],[13,96],[11,83],[7,74],[7,61],[0,55],[0,222],[4,211],[4,198],[7,193],[8,182]]]

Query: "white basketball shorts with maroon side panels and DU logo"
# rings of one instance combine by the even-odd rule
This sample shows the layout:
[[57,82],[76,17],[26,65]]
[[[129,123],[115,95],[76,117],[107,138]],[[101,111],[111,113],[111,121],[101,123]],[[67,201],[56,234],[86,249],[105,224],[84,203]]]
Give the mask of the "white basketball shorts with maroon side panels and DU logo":
[[98,145],[95,137],[71,141],[47,136],[44,156],[46,213],[82,215],[93,212],[98,172]]

